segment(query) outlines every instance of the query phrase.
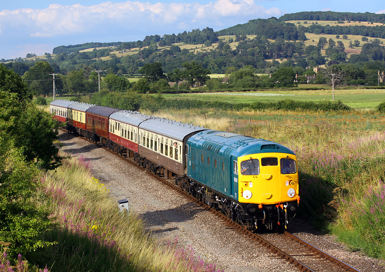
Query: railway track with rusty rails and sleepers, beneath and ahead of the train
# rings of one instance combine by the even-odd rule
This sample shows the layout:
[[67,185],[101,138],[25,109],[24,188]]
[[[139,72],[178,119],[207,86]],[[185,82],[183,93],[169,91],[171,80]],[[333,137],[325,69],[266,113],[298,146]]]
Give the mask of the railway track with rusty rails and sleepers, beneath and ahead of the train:
[[[62,129],[67,132],[67,130]],[[125,160],[129,164],[132,164],[139,169],[143,169],[139,164],[134,162],[132,158],[127,158],[125,156],[119,155],[116,152],[107,149],[103,145],[97,144],[93,141],[90,141],[84,137],[79,136],[87,142],[93,143],[107,150],[108,152],[119,156],[121,159]],[[184,195],[187,199],[195,202],[196,204],[204,207],[206,210],[211,211],[213,214],[217,215],[226,222],[231,228],[243,233],[250,239],[256,240],[264,247],[267,247],[274,254],[274,257],[285,259],[291,264],[295,265],[298,269],[305,272],[360,272],[359,270],[351,267],[350,265],[334,258],[333,256],[323,252],[322,250],[314,247],[313,245],[301,240],[290,232],[283,232],[283,234],[256,234],[245,229],[242,225],[230,220],[221,212],[211,208],[210,206],[204,204],[198,199],[192,197],[187,192],[175,185],[174,179],[164,179],[159,177],[154,172],[151,172],[148,169],[147,173],[151,175],[154,179],[162,182],[164,185],[173,189],[179,194]]]

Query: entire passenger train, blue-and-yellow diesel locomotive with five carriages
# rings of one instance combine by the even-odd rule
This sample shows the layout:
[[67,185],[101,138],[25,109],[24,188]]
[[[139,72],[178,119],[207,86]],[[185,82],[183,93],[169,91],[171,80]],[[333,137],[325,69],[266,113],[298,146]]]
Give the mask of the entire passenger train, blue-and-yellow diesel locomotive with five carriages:
[[67,100],[51,102],[50,112],[69,132],[133,157],[250,230],[286,228],[297,210],[296,155],[283,145]]

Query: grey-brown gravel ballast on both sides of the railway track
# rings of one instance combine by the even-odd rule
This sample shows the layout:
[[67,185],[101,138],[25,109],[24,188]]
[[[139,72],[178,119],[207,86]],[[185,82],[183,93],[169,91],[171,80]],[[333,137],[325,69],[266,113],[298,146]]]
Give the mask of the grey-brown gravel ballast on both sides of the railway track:
[[[166,244],[179,237],[180,245],[191,245],[197,256],[226,272],[298,271],[227,227],[218,217],[168,189],[144,170],[138,170],[110,152],[69,133],[60,132],[59,140],[65,152],[91,160],[95,177],[110,189],[111,197],[128,199],[130,212],[139,214],[147,222],[159,242]],[[291,222],[290,231],[362,272],[385,272],[382,261],[360,252],[349,252],[345,246],[335,242],[335,237],[315,232],[300,220]]]

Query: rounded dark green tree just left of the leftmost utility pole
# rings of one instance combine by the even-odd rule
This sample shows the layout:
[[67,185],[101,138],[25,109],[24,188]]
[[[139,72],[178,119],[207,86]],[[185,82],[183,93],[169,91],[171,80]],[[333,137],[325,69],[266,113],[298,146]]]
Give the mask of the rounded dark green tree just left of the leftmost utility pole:
[[53,77],[50,75],[53,72],[48,62],[35,62],[22,78],[28,82],[28,88],[32,93],[45,97],[53,92]]

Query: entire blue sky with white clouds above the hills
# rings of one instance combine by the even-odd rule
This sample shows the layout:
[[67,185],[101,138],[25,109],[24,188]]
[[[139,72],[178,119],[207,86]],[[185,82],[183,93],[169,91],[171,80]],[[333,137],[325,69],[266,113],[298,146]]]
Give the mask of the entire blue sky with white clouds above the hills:
[[52,53],[59,45],[127,42],[146,35],[214,30],[255,18],[331,10],[385,13],[382,1],[331,0],[0,0],[0,59]]

